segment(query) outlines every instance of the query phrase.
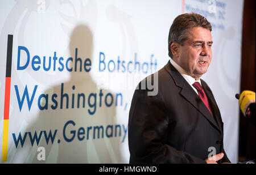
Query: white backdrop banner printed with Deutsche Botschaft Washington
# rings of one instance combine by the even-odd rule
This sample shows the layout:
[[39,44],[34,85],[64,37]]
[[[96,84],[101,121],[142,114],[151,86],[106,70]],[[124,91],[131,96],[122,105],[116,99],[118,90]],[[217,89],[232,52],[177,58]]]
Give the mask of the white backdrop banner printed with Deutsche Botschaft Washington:
[[241,0],[0,0],[1,163],[129,163],[134,89],[170,59],[168,32],[184,12],[213,26],[203,79],[237,163],[242,9]]

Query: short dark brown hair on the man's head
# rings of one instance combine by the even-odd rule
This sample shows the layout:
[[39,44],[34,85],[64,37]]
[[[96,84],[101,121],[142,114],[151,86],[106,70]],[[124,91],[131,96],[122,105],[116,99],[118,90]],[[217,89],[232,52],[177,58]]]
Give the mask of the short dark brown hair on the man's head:
[[183,42],[187,40],[187,31],[193,27],[203,27],[212,31],[212,25],[208,22],[204,16],[191,13],[191,14],[181,14],[174,19],[171,25],[168,37],[168,55],[173,57],[171,51],[172,42],[177,42],[183,45]]

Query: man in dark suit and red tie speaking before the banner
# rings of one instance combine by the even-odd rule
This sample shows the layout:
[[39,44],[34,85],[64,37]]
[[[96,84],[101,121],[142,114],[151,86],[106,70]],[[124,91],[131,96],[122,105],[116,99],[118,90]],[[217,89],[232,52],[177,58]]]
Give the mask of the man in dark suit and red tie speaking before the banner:
[[[172,23],[170,61],[142,80],[134,92],[128,130],[130,163],[230,163],[220,110],[200,79],[212,60],[211,31],[199,14],[182,14]],[[154,95],[147,88],[151,80],[157,89]]]

